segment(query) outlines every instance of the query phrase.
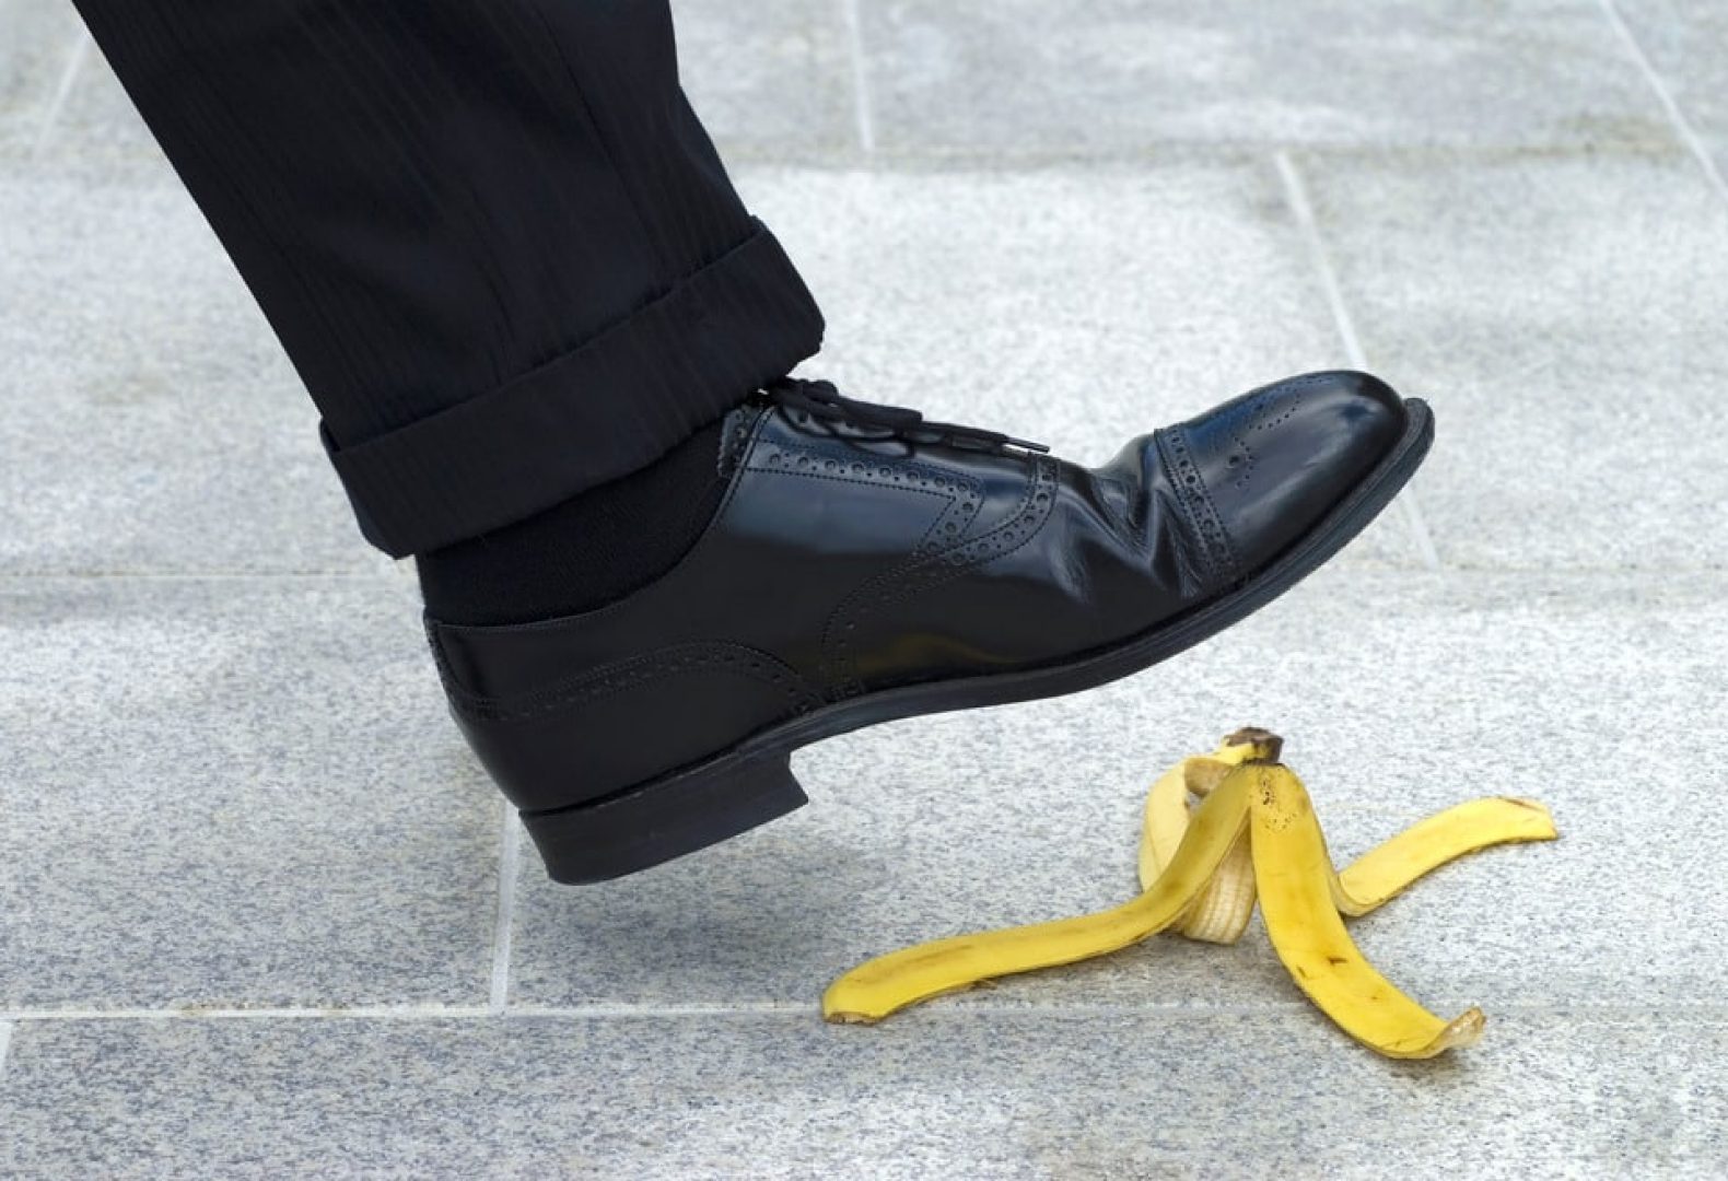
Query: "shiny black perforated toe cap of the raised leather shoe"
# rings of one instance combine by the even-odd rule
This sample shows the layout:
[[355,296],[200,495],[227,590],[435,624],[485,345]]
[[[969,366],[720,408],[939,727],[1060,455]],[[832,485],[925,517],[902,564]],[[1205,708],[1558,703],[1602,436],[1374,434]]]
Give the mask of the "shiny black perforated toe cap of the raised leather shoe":
[[1180,430],[1241,577],[1344,499],[1403,428],[1403,399],[1389,385],[1329,371],[1244,394]]

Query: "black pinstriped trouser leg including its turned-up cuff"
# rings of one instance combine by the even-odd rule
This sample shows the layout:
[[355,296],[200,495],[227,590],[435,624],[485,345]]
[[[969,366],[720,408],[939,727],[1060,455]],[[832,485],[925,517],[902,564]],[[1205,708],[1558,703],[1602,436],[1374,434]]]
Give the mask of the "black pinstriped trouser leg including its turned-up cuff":
[[665,0],[76,0],[404,556],[634,471],[823,319]]

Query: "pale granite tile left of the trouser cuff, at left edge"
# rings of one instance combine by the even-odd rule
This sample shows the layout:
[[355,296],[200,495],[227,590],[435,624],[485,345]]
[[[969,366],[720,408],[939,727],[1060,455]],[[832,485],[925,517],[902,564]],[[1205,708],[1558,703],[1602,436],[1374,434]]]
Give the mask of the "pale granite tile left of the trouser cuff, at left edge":
[[178,186],[0,181],[0,573],[389,572]]

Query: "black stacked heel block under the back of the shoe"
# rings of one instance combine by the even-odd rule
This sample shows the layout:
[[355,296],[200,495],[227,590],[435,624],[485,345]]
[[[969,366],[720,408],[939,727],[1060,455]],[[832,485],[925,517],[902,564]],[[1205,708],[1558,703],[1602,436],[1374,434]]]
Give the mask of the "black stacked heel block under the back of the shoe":
[[624,877],[695,853],[809,803],[788,755],[721,760],[608,796],[600,803],[524,812],[555,882]]

